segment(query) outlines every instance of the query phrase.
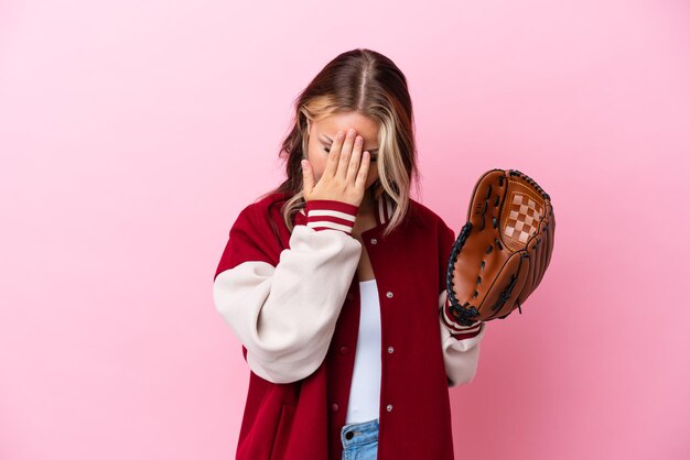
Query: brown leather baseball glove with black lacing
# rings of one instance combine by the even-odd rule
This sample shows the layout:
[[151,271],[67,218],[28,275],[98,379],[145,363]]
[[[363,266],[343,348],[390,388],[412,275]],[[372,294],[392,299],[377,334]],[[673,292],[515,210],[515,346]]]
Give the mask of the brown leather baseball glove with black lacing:
[[522,314],[551,261],[554,230],[551,198],[535,180],[516,169],[484,173],[449,260],[446,324]]

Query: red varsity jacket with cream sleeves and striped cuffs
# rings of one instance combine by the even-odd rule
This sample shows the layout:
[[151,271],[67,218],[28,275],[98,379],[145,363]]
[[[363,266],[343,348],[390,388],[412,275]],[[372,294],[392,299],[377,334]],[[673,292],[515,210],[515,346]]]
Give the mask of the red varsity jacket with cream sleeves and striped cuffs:
[[[214,303],[242,344],[249,390],[238,460],[339,460],[357,332],[357,207],[311,200],[289,232],[272,194],[244,208],[214,276]],[[378,459],[453,459],[449,387],[476,373],[486,324],[444,320],[453,230],[410,199],[377,201],[362,239],[377,280],[381,320]]]

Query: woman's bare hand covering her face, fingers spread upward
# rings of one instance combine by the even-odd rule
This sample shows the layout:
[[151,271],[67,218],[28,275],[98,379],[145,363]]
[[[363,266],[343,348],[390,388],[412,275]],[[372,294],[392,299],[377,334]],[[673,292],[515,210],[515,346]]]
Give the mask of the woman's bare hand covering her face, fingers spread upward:
[[[364,140],[354,129],[347,136],[338,131],[333,140],[323,175],[315,184],[314,169],[309,160],[302,160],[304,200],[333,199],[359,206],[369,172],[369,152],[362,154]],[[362,162],[360,162],[362,156]]]

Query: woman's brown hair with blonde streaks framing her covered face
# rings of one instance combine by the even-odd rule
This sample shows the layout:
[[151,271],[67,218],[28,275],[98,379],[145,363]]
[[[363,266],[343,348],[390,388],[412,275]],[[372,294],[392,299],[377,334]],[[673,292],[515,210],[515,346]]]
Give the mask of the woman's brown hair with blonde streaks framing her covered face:
[[356,111],[378,124],[378,168],[374,197],[387,195],[393,212],[382,236],[398,227],[409,211],[412,184],[419,191],[412,102],[407,79],[388,57],[366,48],[339,54],[313,78],[294,102],[292,128],[282,142],[280,158],[287,179],[259,199],[274,193],[290,198],[281,207],[292,232],[293,216],[304,208],[301,160],[306,158],[311,123],[334,113]]

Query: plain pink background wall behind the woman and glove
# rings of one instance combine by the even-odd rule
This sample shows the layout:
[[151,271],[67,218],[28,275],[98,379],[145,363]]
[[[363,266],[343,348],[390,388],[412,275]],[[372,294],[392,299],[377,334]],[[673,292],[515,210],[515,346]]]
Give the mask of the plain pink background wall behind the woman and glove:
[[0,3],[0,458],[233,458],[213,274],[359,46],[406,73],[452,228],[493,167],[553,199],[549,272],[451,388],[456,457],[690,458],[689,44],[682,0]]

